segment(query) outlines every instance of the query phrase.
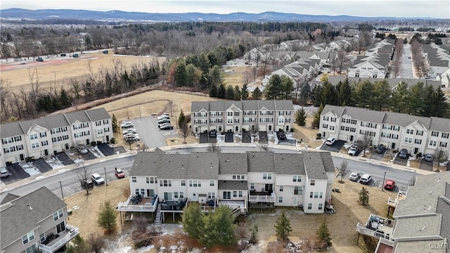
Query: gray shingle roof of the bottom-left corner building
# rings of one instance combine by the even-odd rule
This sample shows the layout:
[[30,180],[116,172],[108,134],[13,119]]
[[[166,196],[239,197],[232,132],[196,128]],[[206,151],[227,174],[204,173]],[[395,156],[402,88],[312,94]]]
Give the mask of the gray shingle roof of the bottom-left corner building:
[[63,200],[60,200],[46,187],[39,188],[28,195],[11,201],[11,206],[1,209],[0,212],[2,249],[37,228],[39,221],[46,219],[66,206]]

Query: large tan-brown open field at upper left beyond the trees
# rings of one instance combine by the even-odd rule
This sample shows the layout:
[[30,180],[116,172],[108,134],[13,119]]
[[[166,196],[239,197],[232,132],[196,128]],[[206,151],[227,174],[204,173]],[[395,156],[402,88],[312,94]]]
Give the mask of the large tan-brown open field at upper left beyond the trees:
[[[50,59],[44,56],[43,58],[44,62],[25,60],[19,63],[1,63],[1,79],[8,82],[13,90],[20,89],[20,86],[24,86],[25,90],[30,90],[30,75],[37,72],[41,90],[49,90],[50,86],[55,86],[55,84],[57,89],[60,89],[61,86],[70,89],[68,84],[71,79],[79,80],[87,77],[89,74],[88,63],[97,78],[101,70],[111,70],[116,64],[123,65],[126,70],[131,70],[133,65],[150,63],[157,59],[147,56],[119,56],[111,53],[86,53],[79,58],[69,56]],[[161,63],[165,58],[158,58],[158,60]]]

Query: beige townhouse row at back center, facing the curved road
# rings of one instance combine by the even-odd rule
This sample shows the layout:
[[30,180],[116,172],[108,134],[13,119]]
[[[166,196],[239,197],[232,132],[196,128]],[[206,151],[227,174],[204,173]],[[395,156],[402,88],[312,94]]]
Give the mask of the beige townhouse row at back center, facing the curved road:
[[192,102],[191,126],[195,134],[219,132],[291,131],[292,100],[240,100]]

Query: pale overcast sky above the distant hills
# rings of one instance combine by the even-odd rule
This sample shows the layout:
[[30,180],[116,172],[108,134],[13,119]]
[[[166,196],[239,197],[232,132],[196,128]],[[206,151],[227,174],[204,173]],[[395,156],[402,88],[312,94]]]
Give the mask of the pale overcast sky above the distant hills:
[[312,15],[450,18],[449,0],[1,0],[0,8],[28,8],[32,10],[67,8],[146,13],[262,13],[264,11],[277,11]]

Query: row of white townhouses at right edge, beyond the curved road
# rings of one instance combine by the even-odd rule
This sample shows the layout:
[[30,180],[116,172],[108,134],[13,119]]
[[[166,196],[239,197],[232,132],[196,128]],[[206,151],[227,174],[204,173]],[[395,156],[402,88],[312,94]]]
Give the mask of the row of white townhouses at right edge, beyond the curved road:
[[450,149],[450,119],[418,117],[398,112],[380,112],[326,105],[321,113],[319,133],[341,141],[358,141],[364,135],[372,145],[406,148],[411,154],[435,153],[437,148]]

